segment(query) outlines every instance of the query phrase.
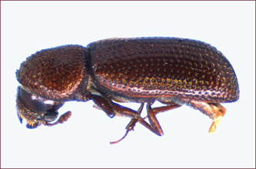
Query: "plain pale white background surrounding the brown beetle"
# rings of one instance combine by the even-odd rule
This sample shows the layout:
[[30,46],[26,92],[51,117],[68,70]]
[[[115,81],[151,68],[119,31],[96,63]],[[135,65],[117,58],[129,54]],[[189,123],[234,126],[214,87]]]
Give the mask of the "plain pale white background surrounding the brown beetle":
[[[255,167],[255,2],[1,2],[1,167]],[[15,108],[15,71],[29,55],[112,37],[193,38],[222,51],[238,76],[239,101],[214,134],[183,106],[158,115],[165,135],[141,124],[119,144],[128,118],[93,102],[68,102],[65,124],[29,130]],[[126,104],[138,109],[139,104]],[[144,111],[145,115],[145,111]]]

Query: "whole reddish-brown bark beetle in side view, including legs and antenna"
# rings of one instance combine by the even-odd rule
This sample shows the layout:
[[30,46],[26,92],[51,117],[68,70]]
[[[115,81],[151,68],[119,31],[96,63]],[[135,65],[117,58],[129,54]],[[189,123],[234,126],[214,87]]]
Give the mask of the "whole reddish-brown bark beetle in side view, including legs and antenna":
[[[92,100],[110,118],[131,118],[124,137],[111,144],[124,139],[136,123],[163,135],[156,114],[183,104],[211,118],[213,133],[226,113],[221,103],[238,101],[240,93],[221,51],[188,38],[109,38],[87,47],[48,48],[23,61],[16,77],[18,118],[27,121],[27,128],[67,121],[71,111],[58,118],[65,101]],[[155,101],[165,106],[151,108]],[[135,111],[121,102],[141,106]],[[147,116],[141,118],[145,103]]]

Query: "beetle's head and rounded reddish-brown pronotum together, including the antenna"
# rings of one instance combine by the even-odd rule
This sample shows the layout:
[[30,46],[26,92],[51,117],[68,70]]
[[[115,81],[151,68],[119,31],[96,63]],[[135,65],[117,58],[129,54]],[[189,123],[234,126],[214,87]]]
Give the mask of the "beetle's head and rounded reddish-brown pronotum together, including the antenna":
[[[27,128],[52,125],[65,101],[88,101],[88,50],[65,45],[36,52],[16,71],[21,86],[17,93],[18,118]],[[71,115],[62,115],[58,123]]]

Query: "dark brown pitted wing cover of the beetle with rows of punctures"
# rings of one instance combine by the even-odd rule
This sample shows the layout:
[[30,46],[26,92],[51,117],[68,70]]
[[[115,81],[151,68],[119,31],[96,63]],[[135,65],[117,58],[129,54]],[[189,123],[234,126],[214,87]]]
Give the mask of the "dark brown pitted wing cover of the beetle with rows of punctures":
[[238,80],[221,51],[184,38],[113,38],[88,45],[95,78],[131,97],[238,100]]

